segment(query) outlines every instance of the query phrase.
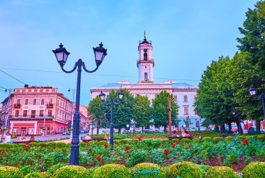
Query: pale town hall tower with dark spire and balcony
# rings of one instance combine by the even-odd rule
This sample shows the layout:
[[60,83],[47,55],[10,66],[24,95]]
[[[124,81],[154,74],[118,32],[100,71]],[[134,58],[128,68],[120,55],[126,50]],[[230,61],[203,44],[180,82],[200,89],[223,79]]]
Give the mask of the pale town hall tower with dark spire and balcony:
[[139,40],[138,46],[138,83],[153,83],[153,66],[155,66],[155,62],[152,58],[152,50],[153,46],[151,40],[146,40],[146,34],[144,31],[144,40]]

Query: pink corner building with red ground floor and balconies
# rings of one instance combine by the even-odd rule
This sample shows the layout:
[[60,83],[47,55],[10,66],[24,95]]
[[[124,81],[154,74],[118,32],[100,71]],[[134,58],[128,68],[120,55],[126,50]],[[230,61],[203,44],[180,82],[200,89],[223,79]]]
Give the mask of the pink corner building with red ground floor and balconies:
[[52,87],[25,84],[2,104],[1,122],[17,135],[63,133],[68,131],[73,118],[73,103]]

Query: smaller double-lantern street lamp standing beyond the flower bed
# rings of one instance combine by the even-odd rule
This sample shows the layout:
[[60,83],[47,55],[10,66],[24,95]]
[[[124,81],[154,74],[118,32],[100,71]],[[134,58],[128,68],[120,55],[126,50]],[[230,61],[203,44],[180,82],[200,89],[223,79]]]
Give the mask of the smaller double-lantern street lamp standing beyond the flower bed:
[[113,105],[119,105],[121,103],[121,101],[123,101],[123,91],[119,92],[119,103],[116,103],[114,101],[114,98],[110,98],[109,99],[109,103],[105,103],[105,94],[101,91],[101,93],[99,94],[101,100],[103,101],[104,105],[110,105],[110,136],[109,136],[109,144],[110,146],[110,150],[113,151]]

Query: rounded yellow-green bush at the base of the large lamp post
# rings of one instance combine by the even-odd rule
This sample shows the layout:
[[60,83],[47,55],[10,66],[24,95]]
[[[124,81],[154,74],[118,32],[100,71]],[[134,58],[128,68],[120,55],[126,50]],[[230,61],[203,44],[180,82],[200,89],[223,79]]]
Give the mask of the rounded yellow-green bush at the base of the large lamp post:
[[54,178],[82,178],[86,168],[78,165],[66,165],[54,172]]

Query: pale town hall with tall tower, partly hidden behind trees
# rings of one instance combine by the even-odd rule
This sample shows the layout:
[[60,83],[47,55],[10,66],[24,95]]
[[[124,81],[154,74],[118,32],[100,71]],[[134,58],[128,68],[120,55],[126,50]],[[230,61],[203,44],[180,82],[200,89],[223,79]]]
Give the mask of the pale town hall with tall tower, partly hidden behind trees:
[[151,41],[146,40],[145,33],[144,40],[139,41],[138,52],[139,59],[136,63],[138,68],[138,83],[130,84],[128,81],[118,81],[116,83],[105,84],[102,87],[93,87],[90,90],[92,99],[96,98],[101,91],[108,95],[112,90],[127,89],[133,96],[147,96],[151,101],[161,91],[167,91],[169,94],[173,94],[175,102],[179,105],[179,124],[173,124],[177,127],[183,127],[183,120],[190,119],[192,124],[189,127],[196,128],[196,121],[200,125],[202,119],[196,114],[193,106],[198,87],[176,81],[154,82],[153,67],[155,66],[155,61],[152,56],[153,46]]

